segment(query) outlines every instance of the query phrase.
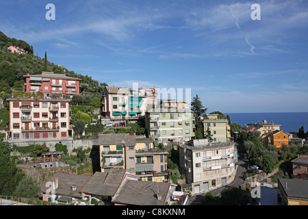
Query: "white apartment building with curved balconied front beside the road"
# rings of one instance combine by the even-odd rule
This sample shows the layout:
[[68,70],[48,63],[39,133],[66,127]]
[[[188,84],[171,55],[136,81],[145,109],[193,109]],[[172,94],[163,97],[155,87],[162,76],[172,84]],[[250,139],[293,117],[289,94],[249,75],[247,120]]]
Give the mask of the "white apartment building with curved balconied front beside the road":
[[231,183],[238,154],[234,142],[209,143],[207,139],[198,139],[179,147],[179,159],[181,174],[192,185],[192,194],[197,194]]

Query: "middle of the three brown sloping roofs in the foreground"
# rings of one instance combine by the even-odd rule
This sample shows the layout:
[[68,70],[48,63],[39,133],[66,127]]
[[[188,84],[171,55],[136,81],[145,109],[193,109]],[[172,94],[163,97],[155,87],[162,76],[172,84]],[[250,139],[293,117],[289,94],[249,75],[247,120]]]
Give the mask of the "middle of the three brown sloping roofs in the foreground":
[[109,172],[95,172],[80,192],[114,196],[127,170],[111,168]]

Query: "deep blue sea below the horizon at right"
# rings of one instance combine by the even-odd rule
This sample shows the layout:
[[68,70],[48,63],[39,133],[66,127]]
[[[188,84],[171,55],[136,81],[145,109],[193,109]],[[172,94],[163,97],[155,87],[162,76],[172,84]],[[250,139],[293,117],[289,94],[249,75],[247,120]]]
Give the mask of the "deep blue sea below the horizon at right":
[[283,131],[298,131],[304,127],[308,131],[308,112],[256,112],[256,113],[224,113],[229,115],[231,123],[238,123],[242,127],[249,123],[276,123],[281,125]]

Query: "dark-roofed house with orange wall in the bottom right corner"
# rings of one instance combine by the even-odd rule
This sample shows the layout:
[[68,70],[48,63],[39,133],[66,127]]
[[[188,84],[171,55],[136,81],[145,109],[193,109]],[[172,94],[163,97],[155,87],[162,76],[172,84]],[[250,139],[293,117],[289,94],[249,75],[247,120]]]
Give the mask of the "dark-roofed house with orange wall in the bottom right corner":
[[308,180],[278,179],[282,205],[308,205]]

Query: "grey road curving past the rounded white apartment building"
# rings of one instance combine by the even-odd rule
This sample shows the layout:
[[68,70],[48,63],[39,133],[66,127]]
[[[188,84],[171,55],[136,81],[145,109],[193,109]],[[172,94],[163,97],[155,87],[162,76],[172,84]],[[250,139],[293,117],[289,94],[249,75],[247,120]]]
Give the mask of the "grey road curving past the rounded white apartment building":
[[[237,145],[238,153],[242,154],[243,146],[239,142],[236,142],[235,144]],[[242,183],[244,183],[243,176],[247,168],[248,168],[248,160],[244,159],[242,155],[240,155],[238,157],[238,170],[236,171],[236,175],[232,183],[229,183],[228,185],[224,185],[220,188],[217,188],[216,190],[211,190],[210,192],[216,196],[220,194],[222,191],[227,190],[228,188],[233,188],[233,187],[237,187],[238,185],[241,185]],[[203,203],[205,194],[206,193],[192,195],[190,197],[190,201],[188,202],[188,205],[201,205]]]

